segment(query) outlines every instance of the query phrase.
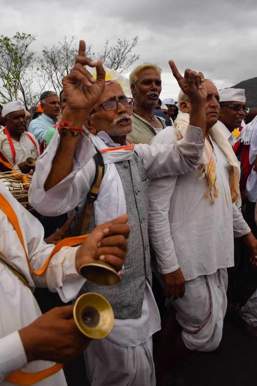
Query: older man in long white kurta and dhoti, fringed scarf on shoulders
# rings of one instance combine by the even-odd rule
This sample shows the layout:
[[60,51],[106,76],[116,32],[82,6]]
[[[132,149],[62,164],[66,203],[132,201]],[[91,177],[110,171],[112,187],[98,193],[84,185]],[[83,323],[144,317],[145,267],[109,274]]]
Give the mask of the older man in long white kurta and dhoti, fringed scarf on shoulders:
[[[257,240],[235,206],[240,166],[217,125],[219,93],[212,81],[205,80],[205,86],[204,156],[199,169],[150,180],[149,237],[165,293],[183,328],[185,346],[212,351],[219,347],[222,337],[227,267],[234,265],[234,237],[244,237],[252,257],[257,256]],[[162,130],[152,146],[175,144],[183,138],[191,108],[189,98],[180,91],[174,126]]]

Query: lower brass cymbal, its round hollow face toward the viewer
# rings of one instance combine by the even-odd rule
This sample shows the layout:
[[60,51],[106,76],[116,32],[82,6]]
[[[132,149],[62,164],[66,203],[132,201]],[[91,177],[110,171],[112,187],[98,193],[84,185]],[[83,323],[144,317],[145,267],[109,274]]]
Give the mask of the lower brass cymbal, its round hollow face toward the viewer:
[[98,293],[84,293],[73,308],[77,327],[91,339],[102,339],[112,330],[114,314],[110,303]]

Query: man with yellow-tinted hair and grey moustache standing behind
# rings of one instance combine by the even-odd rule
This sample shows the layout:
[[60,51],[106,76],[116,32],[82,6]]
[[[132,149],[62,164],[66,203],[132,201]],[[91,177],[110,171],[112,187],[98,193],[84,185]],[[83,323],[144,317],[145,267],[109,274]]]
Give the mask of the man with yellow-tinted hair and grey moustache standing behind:
[[154,115],[154,108],[162,91],[161,73],[162,70],[156,63],[144,63],[134,68],[129,76],[134,99],[134,130],[127,138],[134,144],[149,145],[155,135],[166,127],[165,119]]

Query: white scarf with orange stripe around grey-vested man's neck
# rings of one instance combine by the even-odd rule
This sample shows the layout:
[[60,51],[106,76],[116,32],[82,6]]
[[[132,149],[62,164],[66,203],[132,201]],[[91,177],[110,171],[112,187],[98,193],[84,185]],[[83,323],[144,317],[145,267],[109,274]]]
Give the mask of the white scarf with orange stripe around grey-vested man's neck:
[[[127,213],[122,182],[115,162],[131,159],[134,145],[118,146],[104,131],[91,134],[91,139],[100,151],[106,168],[98,191],[98,199],[94,202],[95,224],[100,225]],[[107,144],[115,147],[107,147]]]

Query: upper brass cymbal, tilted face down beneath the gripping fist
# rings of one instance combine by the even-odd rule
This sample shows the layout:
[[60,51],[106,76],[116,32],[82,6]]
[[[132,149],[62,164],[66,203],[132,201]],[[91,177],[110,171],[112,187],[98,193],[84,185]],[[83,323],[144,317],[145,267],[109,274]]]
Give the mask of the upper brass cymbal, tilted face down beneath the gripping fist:
[[95,260],[80,268],[80,274],[93,283],[112,286],[120,281],[117,271],[102,260]]

